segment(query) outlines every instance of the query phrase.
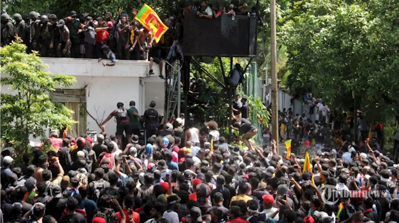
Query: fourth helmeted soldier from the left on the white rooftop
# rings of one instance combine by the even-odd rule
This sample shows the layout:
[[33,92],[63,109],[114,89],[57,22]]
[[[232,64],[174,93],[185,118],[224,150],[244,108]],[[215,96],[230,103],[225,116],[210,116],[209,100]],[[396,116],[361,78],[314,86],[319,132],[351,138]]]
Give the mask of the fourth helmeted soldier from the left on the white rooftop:
[[35,40],[38,42],[40,49],[40,56],[52,55],[52,48],[54,47],[54,33],[49,18],[46,15],[40,16],[40,24],[36,29]]

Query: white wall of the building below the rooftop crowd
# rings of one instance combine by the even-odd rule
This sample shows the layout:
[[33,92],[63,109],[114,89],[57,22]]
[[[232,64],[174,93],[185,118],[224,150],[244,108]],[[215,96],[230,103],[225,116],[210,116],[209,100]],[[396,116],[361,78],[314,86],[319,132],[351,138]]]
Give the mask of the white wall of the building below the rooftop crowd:
[[[160,114],[164,112],[164,80],[159,78],[159,67],[154,63],[154,75],[147,77],[148,61],[119,60],[115,66],[102,66],[97,59],[42,58],[53,74],[75,76],[77,82],[66,89],[86,89],[86,108],[99,122],[117,109],[117,103],[129,107],[136,102],[139,114],[143,114],[150,101],[156,102]],[[7,86],[0,86],[0,92],[9,93]],[[87,115],[87,128],[100,131],[95,120]],[[107,132],[116,132],[115,119],[106,124]],[[37,141],[38,139],[34,140]]]

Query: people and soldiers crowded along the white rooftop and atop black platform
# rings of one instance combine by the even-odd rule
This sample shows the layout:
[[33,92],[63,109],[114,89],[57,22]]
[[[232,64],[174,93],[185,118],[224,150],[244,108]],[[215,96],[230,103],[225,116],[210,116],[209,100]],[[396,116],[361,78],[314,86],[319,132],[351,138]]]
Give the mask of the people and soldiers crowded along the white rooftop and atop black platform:
[[28,46],[28,52],[36,50],[45,57],[108,58],[114,66],[119,60],[150,60],[159,64],[161,59],[170,60],[176,47],[183,59],[182,24],[185,14],[196,14],[203,18],[217,18],[222,14],[231,16],[247,15],[247,4],[233,1],[227,7],[218,3],[208,4],[201,0],[195,4],[189,1],[172,3],[172,11],[161,16],[169,27],[161,40],[156,43],[150,30],[143,27],[131,14],[117,16],[111,12],[105,15],[77,13],[72,11],[62,18],[55,14],[14,14],[12,17],[1,11],[0,45],[8,45],[19,37]]

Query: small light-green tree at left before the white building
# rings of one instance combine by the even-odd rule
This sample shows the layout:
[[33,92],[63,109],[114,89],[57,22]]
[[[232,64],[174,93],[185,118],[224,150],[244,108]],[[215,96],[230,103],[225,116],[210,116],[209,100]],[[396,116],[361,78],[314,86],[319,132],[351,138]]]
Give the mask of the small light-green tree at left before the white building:
[[10,93],[0,93],[0,141],[14,142],[26,151],[29,136],[45,138],[43,127],[61,129],[75,123],[72,111],[54,105],[49,93],[55,87],[71,86],[73,76],[43,71],[39,56],[27,54],[26,46],[12,43],[0,48],[0,86]]

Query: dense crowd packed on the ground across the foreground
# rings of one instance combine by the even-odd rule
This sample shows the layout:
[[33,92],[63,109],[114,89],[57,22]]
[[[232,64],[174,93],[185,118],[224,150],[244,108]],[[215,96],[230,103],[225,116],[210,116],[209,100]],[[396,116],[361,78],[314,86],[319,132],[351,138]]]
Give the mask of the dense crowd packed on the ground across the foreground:
[[247,146],[229,144],[212,120],[200,129],[190,115],[160,124],[154,102],[140,115],[134,101],[118,103],[101,123],[115,118],[115,135],[104,126],[95,138],[54,131],[18,165],[6,145],[0,222],[397,222],[399,165],[374,142],[366,139],[363,150],[333,141],[310,160],[280,154],[274,141],[249,142],[257,129],[245,99],[236,101],[244,109],[234,111],[233,127]]

